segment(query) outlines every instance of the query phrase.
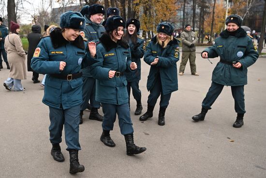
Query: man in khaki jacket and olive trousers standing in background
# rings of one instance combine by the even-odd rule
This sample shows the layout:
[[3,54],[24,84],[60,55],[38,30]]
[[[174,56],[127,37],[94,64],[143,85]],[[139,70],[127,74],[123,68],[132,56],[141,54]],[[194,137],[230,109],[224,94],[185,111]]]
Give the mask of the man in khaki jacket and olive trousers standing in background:
[[191,74],[199,76],[196,70],[196,43],[198,37],[195,32],[191,30],[191,25],[187,24],[185,26],[184,32],[181,33],[182,39],[182,60],[179,67],[179,75],[183,75],[185,72],[185,67],[189,60]]

